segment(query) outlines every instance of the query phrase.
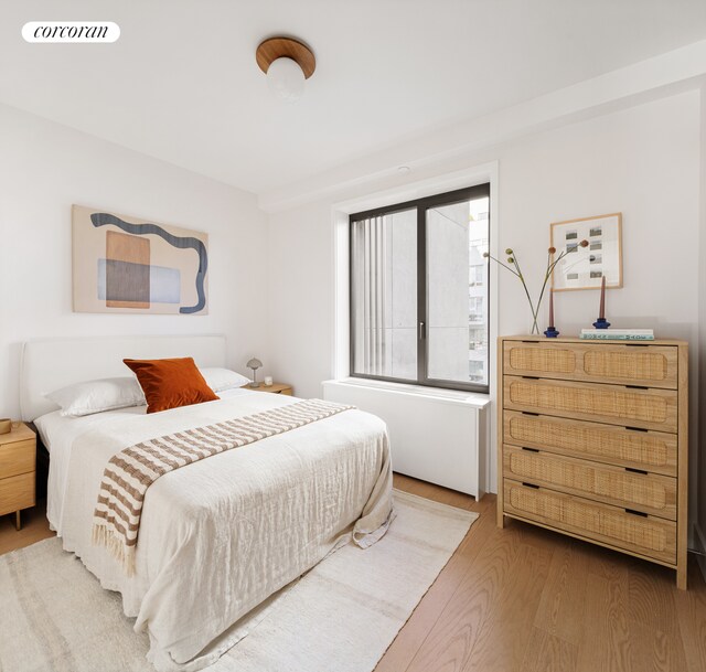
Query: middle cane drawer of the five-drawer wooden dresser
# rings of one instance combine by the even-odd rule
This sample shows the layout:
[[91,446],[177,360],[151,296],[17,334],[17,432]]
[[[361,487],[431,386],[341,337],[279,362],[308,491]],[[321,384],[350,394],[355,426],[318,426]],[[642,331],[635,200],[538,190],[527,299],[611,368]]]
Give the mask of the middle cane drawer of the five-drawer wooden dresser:
[[676,476],[675,434],[505,410],[503,441],[663,476]]

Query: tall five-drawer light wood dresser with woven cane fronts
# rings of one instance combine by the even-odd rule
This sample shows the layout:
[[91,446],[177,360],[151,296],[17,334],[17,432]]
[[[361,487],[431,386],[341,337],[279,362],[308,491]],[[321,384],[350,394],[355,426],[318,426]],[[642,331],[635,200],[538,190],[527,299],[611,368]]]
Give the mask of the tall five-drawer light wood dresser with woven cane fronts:
[[502,337],[498,359],[498,524],[666,565],[686,588],[686,342]]

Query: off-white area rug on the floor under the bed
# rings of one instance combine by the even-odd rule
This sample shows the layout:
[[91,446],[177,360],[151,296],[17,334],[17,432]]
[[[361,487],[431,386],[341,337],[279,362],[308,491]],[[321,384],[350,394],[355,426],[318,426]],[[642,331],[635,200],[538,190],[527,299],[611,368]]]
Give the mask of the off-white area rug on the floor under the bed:
[[[349,544],[281,590],[206,670],[371,672],[478,518],[400,491],[395,509],[381,542]],[[151,672],[133,622],[55,537],[0,556],[2,671]]]

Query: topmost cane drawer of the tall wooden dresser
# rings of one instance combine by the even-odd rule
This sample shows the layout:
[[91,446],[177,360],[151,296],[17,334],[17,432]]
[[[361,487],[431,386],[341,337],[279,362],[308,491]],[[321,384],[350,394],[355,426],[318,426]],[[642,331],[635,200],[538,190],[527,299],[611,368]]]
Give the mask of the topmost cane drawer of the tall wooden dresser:
[[672,345],[613,345],[504,341],[506,374],[548,378],[677,386],[677,348]]

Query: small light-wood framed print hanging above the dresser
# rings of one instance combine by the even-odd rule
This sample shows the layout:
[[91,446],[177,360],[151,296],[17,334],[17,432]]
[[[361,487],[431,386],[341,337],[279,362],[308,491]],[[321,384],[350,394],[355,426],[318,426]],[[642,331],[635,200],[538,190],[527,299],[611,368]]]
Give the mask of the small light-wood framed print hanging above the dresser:
[[599,289],[603,277],[606,287],[622,287],[621,213],[554,222],[549,231],[557,256],[567,253],[552,275],[554,291]]

